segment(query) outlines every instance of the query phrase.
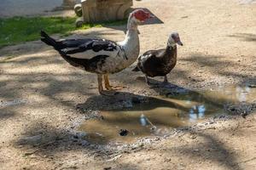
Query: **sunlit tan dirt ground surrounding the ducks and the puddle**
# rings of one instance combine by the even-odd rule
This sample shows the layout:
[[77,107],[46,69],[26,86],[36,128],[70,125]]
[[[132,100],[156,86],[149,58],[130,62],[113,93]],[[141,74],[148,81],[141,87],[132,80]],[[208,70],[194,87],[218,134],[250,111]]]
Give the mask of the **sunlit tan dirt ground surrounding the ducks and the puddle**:
[[[191,90],[256,83],[256,6],[236,0],[144,0],[159,20],[139,26],[141,53],[179,32],[169,81]],[[76,31],[71,37],[124,39],[124,27]],[[55,37],[58,37],[57,35]],[[42,42],[0,49],[0,169],[255,169],[256,115],[206,120],[163,138],[119,146],[88,144],[79,123],[99,113],[96,76],[68,65]],[[124,96],[152,96],[131,68],[111,76]],[[125,78],[124,78],[125,77]],[[162,80],[161,78],[156,78]],[[124,97],[125,98],[125,97]],[[129,98],[129,97],[127,97]],[[111,99],[110,99],[111,100]],[[114,99],[112,99],[115,101]],[[87,105],[78,111],[79,105]],[[102,106],[104,107],[104,105]]]

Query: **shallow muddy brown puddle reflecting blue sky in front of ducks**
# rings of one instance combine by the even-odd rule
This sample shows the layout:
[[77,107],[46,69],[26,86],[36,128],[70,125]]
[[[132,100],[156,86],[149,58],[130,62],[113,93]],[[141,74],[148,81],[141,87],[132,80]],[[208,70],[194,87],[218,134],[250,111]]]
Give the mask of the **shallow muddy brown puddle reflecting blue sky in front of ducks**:
[[254,87],[219,87],[201,92],[175,91],[150,97],[131,107],[101,111],[101,118],[85,121],[79,131],[90,143],[132,142],[146,136],[163,136],[176,127],[187,127],[209,116],[230,114],[226,105],[255,103]]

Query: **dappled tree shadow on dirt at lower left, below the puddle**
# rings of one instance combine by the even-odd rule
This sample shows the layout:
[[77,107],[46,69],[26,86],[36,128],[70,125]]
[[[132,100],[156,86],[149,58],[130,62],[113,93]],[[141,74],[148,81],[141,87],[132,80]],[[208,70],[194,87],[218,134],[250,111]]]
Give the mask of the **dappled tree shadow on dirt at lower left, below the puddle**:
[[[64,151],[64,148],[72,147],[72,150],[97,150],[96,147],[91,146],[86,141],[81,139],[78,133],[71,130],[58,129],[56,127],[42,124],[44,131],[41,127],[38,127],[38,122],[33,122],[32,126],[26,128],[23,134],[28,136],[41,135],[41,139],[38,141],[30,141],[30,139],[17,139],[14,141],[16,145],[22,144],[24,149],[38,150],[38,153],[42,156],[53,155],[57,151]],[[104,151],[104,150],[102,150]]]

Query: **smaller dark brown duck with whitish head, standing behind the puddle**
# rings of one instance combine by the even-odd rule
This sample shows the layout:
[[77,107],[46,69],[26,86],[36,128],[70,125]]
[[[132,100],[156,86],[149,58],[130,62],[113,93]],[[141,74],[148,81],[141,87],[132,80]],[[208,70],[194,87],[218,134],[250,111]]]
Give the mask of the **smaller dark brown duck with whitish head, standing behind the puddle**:
[[177,32],[173,32],[164,49],[149,50],[142,54],[137,61],[137,66],[132,71],[142,71],[145,74],[148,85],[148,77],[165,77],[164,83],[168,82],[166,75],[172,71],[177,63],[177,45],[183,46]]

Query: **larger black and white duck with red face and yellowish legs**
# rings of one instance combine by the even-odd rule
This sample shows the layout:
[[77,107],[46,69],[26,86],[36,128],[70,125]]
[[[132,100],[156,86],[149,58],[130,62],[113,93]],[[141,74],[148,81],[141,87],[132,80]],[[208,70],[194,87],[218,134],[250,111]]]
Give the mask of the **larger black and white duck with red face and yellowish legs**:
[[55,40],[41,31],[41,41],[52,46],[70,65],[97,74],[98,90],[103,95],[113,95],[108,74],[124,70],[137,60],[140,51],[137,26],[153,16],[143,9],[134,10],[127,22],[125,40],[113,42],[98,38]]

